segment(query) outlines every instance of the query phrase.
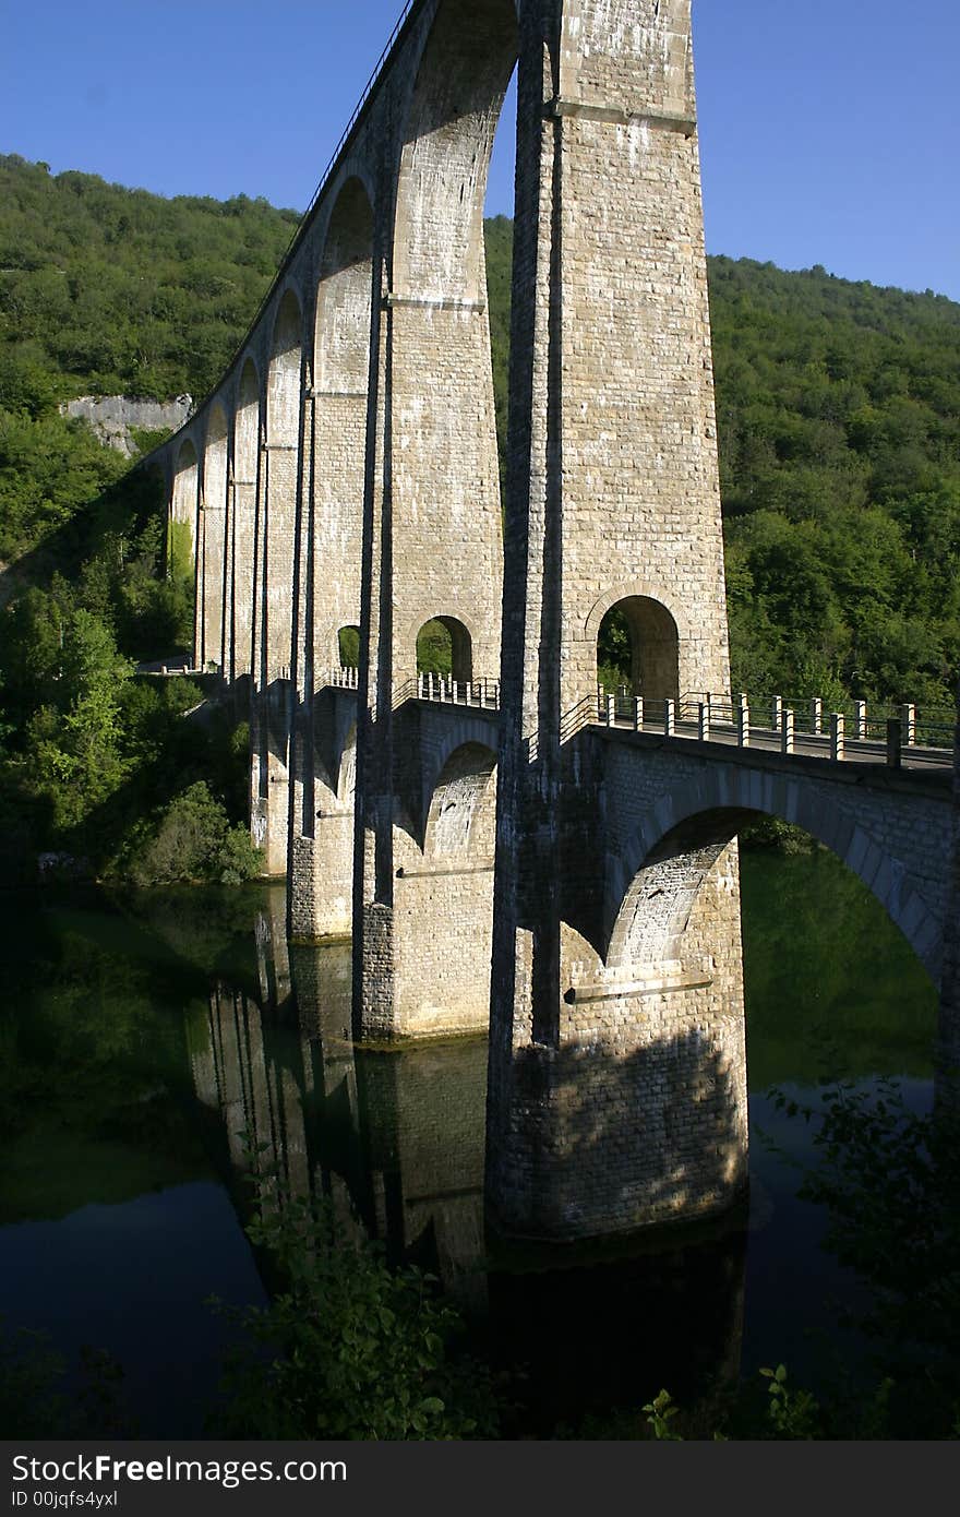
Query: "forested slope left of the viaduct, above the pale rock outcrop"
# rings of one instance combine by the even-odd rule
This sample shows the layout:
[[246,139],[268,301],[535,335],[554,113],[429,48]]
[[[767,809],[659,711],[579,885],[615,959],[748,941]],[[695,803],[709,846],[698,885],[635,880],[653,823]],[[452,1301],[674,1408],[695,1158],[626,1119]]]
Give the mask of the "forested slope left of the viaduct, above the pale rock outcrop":
[[[0,313],[9,385],[202,396],[276,273],[299,215],[0,158]],[[53,378],[50,378],[53,376]]]

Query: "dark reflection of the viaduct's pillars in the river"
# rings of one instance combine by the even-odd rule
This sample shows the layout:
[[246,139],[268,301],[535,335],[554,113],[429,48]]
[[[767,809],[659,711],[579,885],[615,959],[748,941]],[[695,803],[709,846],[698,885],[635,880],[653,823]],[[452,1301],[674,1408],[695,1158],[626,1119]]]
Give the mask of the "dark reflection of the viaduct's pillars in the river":
[[258,912],[255,939],[259,997],[217,980],[191,1044],[234,1177],[256,1170],[276,1204],[329,1197],[344,1241],[362,1226],[394,1262],[438,1276],[478,1346],[526,1365],[541,1431],[635,1406],[646,1387],[669,1382],[690,1402],[737,1379],[742,1229],[670,1235],[657,1250],[634,1241],[490,1258],[487,1041],[355,1048],[349,942],[288,947],[279,895]]

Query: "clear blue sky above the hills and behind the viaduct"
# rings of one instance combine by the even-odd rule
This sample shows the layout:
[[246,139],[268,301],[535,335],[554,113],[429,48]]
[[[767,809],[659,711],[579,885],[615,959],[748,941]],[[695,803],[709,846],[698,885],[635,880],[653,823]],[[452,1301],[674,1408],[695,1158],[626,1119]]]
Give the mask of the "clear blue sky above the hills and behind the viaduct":
[[[0,0],[0,152],[303,209],[400,9]],[[693,20],[708,250],[960,299],[960,0],[693,0]],[[510,137],[505,112],[490,214],[511,211]]]

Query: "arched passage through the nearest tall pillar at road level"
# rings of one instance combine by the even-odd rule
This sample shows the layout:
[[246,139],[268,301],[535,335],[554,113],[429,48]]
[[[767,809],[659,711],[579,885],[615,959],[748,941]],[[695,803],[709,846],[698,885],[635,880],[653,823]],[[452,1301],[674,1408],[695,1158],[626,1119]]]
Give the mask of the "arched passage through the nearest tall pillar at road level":
[[648,595],[611,605],[598,631],[596,674],[611,695],[679,699],[679,637],[666,605]]

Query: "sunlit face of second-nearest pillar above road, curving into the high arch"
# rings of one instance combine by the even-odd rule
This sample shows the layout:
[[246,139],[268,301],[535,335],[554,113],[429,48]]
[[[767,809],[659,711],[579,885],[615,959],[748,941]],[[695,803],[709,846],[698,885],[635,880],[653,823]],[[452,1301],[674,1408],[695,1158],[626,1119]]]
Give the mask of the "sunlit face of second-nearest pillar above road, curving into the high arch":
[[[499,669],[504,545],[484,200],[516,61],[514,0],[441,0],[399,123],[385,316],[399,334],[390,402],[394,435],[403,438],[391,470],[405,540],[393,545],[394,643],[406,648],[409,669],[414,617],[425,599],[441,604],[455,564],[456,604],[473,628],[470,664],[455,634],[446,649],[450,664],[435,646],[420,672],[456,680],[493,678]],[[507,279],[505,259],[500,276]],[[505,332],[497,335],[504,347]],[[438,637],[435,628],[432,634]]]

